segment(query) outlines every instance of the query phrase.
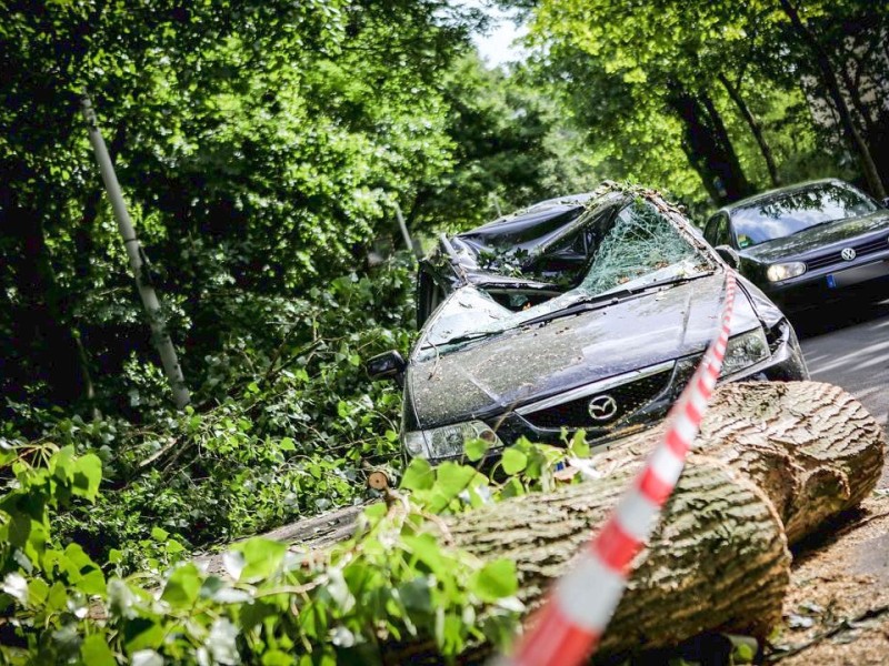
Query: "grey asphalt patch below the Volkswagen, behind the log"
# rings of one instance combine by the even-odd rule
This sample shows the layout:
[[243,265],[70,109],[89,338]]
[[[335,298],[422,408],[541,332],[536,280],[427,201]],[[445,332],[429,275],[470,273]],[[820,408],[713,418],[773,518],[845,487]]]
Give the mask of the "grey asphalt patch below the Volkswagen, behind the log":
[[812,380],[842,386],[887,427],[889,301],[831,304],[793,321]]

